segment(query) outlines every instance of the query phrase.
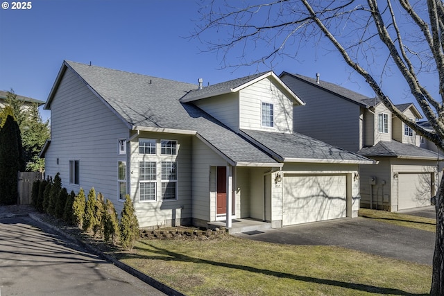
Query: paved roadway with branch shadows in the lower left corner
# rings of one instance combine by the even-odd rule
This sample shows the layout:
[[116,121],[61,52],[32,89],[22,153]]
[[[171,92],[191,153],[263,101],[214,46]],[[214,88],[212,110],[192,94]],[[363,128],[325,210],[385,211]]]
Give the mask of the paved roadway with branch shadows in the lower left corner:
[[0,295],[164,295],[31,218],[0,219]]

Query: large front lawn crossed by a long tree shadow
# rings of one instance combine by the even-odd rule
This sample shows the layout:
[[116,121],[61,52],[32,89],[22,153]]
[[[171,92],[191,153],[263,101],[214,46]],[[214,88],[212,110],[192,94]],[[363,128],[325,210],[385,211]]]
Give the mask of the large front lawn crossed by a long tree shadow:
[[432,266],[233,236],[141,240],[121,261],[185,295],[427,295]]

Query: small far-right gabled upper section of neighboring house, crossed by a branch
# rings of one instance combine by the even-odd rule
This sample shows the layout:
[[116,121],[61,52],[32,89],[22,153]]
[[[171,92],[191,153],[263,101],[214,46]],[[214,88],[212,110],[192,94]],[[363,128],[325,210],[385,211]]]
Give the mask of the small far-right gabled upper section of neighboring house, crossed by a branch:
[[[422,119],[422,116],[418,112],[418,109],[416,109],[416,107],[412,103],[395,106],[402,112],[402,114],[407,116],[407,118],[409,118],[413,122],[418,121],[418,119]],[[394,140],[401,143],[416,145],[416,132],[395,116],[393,116],[392,137]]]

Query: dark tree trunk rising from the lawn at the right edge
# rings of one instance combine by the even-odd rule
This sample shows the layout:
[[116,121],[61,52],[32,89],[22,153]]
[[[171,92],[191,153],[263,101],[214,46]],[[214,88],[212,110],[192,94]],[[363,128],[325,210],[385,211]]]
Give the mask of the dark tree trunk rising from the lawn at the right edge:
[[432,288],[430,295],[444,295],[444,176],[435,198],[436,238],[433,256]]

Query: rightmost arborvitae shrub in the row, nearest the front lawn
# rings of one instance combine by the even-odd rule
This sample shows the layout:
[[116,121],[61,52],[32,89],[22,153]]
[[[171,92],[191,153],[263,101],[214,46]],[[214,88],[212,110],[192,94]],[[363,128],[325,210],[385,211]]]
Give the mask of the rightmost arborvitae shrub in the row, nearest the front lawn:
[[135,240],[139,237],[139,221],[135,216],[135,209],[130,195],[125,195],[125,203],[120,219],[120,242],[126,249],[132,249]]

